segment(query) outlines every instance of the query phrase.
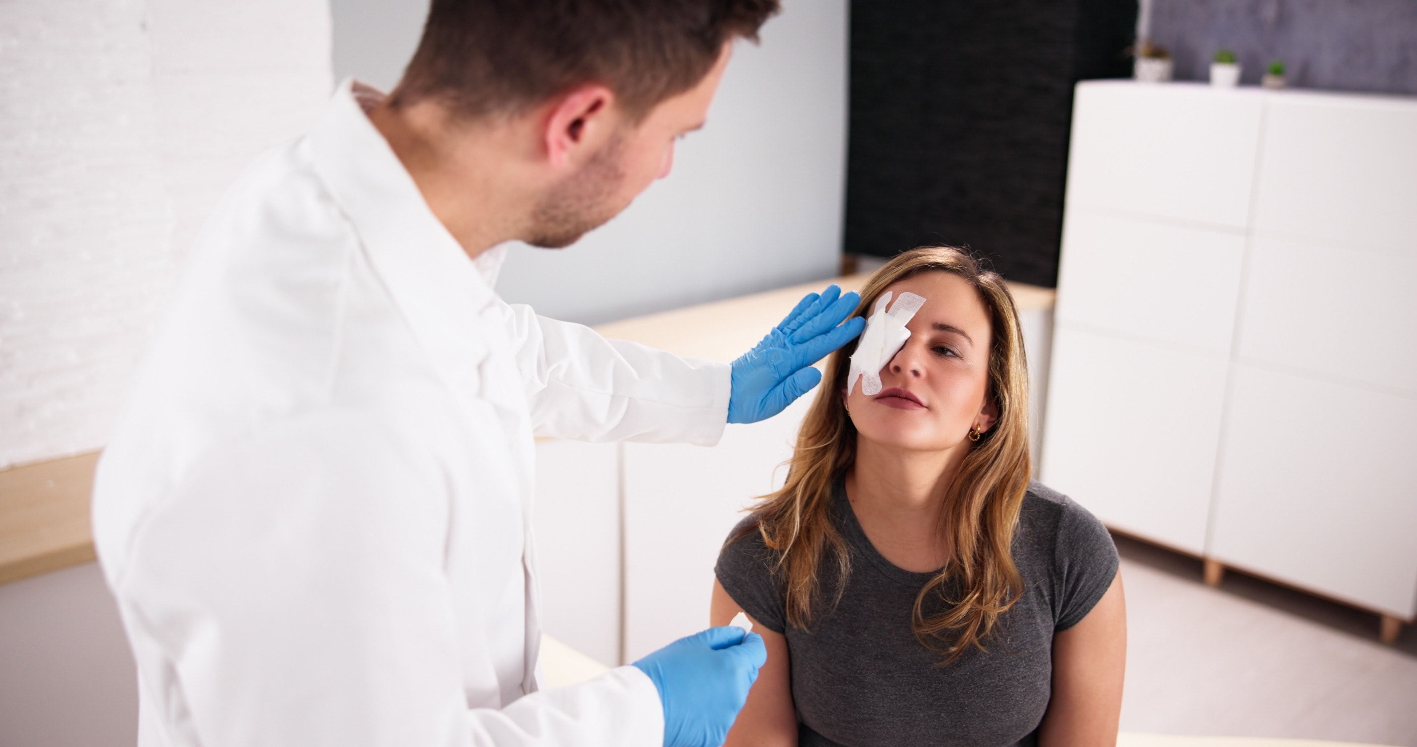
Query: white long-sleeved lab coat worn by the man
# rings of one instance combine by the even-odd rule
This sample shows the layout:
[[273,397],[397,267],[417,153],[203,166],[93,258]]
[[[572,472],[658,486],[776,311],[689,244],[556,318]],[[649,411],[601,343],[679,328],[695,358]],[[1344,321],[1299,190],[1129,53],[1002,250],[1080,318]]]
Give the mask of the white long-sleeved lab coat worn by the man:
[[659,747],[632,666],[537,692],[533,437],[713,444],[728,369],[499,299],[370,95],[222,198],[99,465],[139,743]]

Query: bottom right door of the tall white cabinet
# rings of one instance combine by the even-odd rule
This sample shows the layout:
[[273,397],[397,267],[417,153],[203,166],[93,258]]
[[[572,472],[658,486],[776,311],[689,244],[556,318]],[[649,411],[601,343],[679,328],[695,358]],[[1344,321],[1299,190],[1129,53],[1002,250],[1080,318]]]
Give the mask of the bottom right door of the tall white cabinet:
[[1238,364],[1212,554],[1417,612],[1417,400]]

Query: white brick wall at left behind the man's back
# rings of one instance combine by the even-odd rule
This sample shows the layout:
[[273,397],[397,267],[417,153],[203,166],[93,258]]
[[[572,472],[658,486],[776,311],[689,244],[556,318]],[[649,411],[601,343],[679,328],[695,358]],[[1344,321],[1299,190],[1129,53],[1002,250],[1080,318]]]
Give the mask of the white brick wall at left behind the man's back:
[[326,0],[0,3],[0,469],[101,448],[180,258],[332,89]]

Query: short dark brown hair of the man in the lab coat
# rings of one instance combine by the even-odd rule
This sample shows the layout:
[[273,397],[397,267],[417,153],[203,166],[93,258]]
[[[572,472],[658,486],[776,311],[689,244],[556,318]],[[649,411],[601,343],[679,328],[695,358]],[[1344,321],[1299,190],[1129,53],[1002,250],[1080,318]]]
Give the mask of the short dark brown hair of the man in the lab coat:
[[724,43],[757,40],[778,0],[432,0],[393,106],[435,98],[462,116],[521,113],[587,82],[640,119],[689,91]]

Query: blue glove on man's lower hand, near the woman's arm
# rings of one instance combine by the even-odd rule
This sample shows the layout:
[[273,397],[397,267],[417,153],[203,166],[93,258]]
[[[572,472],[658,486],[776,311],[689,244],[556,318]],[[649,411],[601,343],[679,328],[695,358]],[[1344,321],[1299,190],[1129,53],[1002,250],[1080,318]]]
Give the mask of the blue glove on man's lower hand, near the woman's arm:
[[665,747],[718,747],[768,661],[762,636],[708,628],[635,662],[665,706]]

